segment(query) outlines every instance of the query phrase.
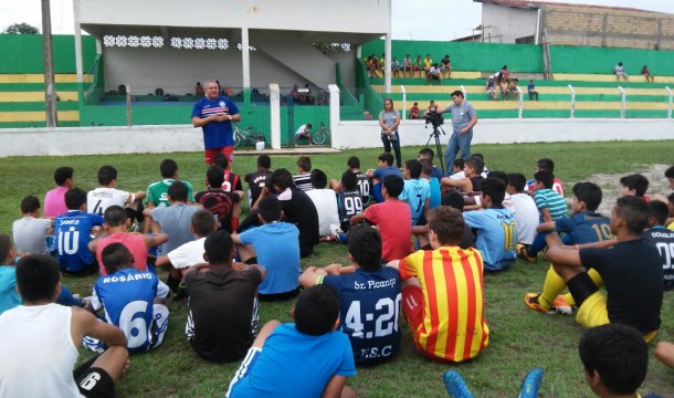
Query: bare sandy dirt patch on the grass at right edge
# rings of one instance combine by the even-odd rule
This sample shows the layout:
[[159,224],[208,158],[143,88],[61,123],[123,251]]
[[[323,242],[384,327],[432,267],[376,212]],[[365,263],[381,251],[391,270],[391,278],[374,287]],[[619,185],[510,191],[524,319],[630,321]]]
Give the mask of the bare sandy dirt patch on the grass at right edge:
[[[665,170],[671,165],[649,165],[644,166],[639,172],[649,179],[649,190],[646,195],[653,197],[655,193],[670,192],[667,179],[665,178]],[[583,181],[591,181],[601,187],[603,191],[603,199],[599,206],[599,212],[605,216],[611,214],[611,208],[615,205],[615,199],[620,196],[620,178],[630,175],[631,172],[621,174],[596,174],[583,179]],[[568,187],[572,187],[578,181],[567,182]]]

